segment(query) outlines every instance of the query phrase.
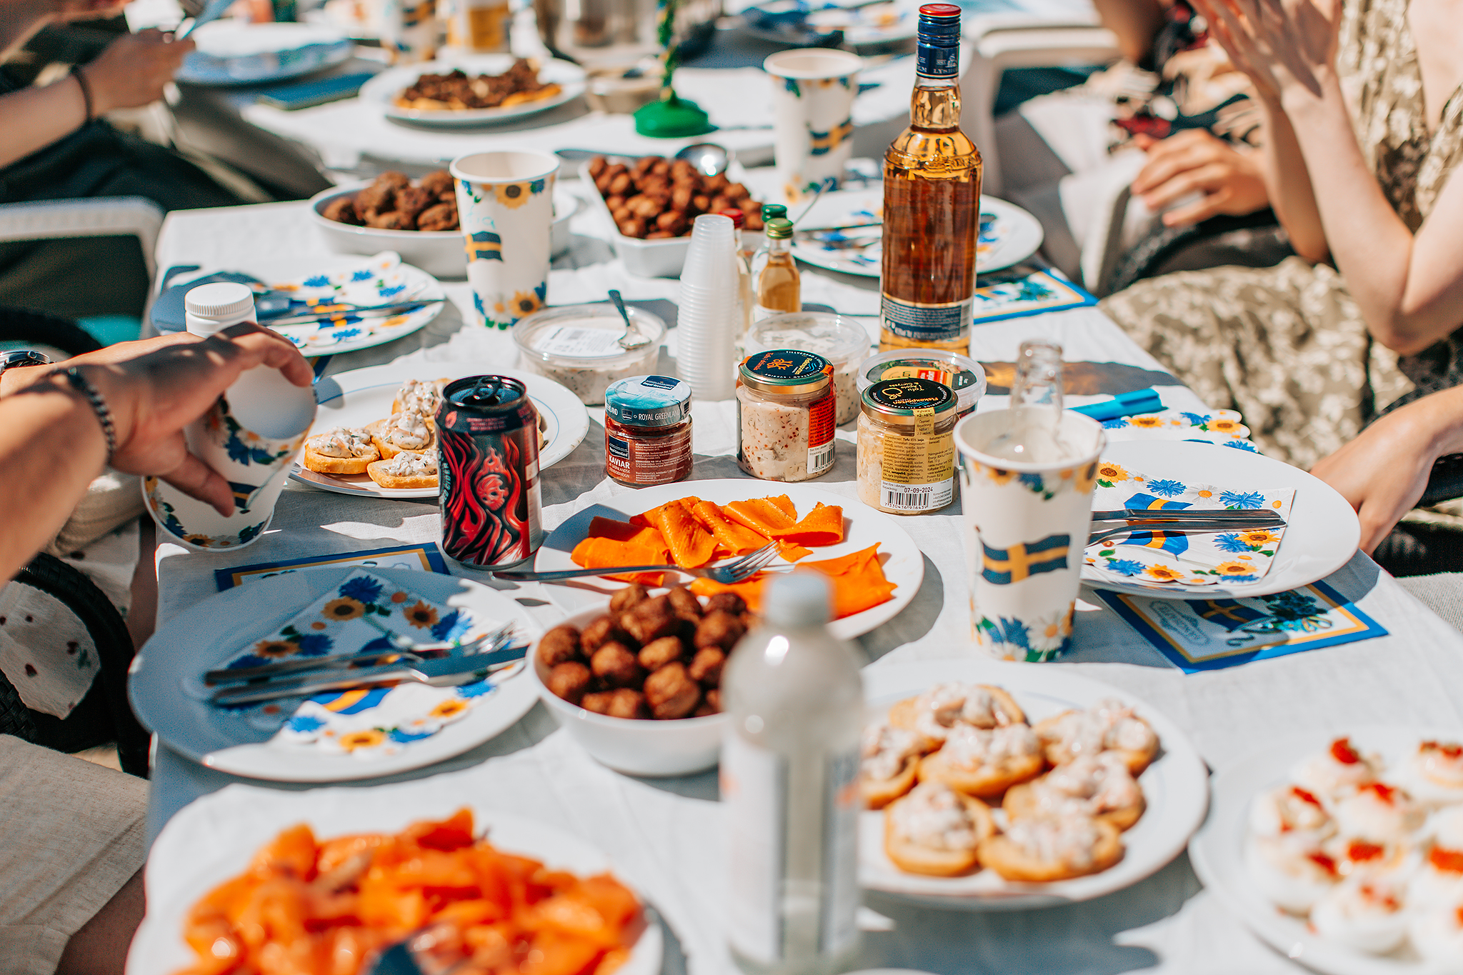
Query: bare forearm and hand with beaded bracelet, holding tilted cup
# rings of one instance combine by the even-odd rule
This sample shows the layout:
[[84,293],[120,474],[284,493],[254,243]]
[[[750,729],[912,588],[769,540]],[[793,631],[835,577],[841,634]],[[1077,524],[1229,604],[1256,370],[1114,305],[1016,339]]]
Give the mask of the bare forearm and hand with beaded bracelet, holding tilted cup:
[[[234,507],[228,482],[187,452],[183,427],[255,365],[310,384],[310,365],[279,335],[238,325],[203,339],[149,339],[111,346],[66,363],[97,387],[113,415],[117,452],[111,465],[154,474],[221,513]],[[41,371],[42,368],[48,371]],[[0,579],[10,579],[66,523],[107,460],[91,402],[57,367],[23,370],[23,384],[0,398]]]

